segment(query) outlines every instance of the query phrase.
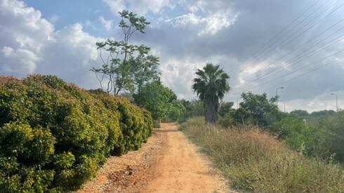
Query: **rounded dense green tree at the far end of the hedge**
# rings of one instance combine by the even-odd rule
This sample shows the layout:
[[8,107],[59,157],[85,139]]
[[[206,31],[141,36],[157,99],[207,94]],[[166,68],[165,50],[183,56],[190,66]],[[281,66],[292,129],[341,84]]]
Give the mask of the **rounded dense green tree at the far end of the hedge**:
[[145,84],[140,93],[133,96],[136,104],[152,112],[154,120],[164,119],[176,100],[175,93],[159,81]]

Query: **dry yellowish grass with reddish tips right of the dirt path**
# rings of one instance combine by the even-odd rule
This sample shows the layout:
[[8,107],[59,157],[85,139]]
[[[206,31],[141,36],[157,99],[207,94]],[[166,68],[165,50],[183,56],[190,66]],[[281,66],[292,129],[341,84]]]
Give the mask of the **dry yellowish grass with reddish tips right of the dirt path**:
[[305,158],[254,126],[221,129],[190,119],[180,129],[223,171],[234,189],[249,192],[343,192],[343,168]]

